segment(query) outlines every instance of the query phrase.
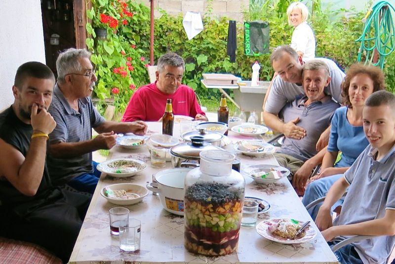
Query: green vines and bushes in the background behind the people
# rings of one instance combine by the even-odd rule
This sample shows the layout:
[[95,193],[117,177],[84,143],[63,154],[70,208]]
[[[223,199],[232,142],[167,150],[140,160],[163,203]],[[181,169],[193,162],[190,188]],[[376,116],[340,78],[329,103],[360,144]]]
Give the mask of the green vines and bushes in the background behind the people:
[[[93,62],[101,69],[98,72],[98,85],[95,88],[96,96],[100,99],[99,109],[104,111],[108,101],[106,98],[113,96],[117,111],[123,112],[128,100],[134,92],[134,87],[139,87],[149,82],[146,64],[149,61],[150,10],[144,4],[135,1],[123,0],[91,0],[93,7],[88,10],[88,17],[92,25],[87,25],[90,38],[87,40],[89,49],[94,53]],[[172,51],[182,56],[186,62],[183,83],[192,87],[202,104],[208,110],[216,110],[219,104],[220,93],[216,89],[205,89],[200,83],[202,73],[232,73],[242,79],[251,79],[251,65],[258,61],[261,64],[260,79],[270,80],[273,69],[270,65],[269,54],[248,57],[243,54],[243,28],[237,22],[237,52],[236,63],[229,61],[226,54],[228,18],[217,19],[212,15],[208,1],[208,8],[204,14],[204,30],[195,38],[188,40],[182,26],[183,17],[170,16],[161,11],[162,16],[155,20],[155,61]],[[260,19],[270,23],[270,47],[288,44],[291,41],[293,28],[288,25],[286,8],[290,0],[253,0],[249,10],[244,11],[245,20]],[[316,57],[328,57],[339,66],[347,70],[356,62],[359,43],[355,40],[362,33],[361,19],[366,9],[360,12],[347,10],[348,16],[340,16],[346,10],[322,10],[319,0],[305,1],[311,6],[309,23],[316,34]],[[126,5],[133,17],[127,17],[127,24],[123,25],[125,18],[122,11]],[[117,28],[110,27],[100,20],[101,14],[108,14],[118,19]],[[339,17],[335,21],[330,18]],[[114,26],[114,25],[113,25]],[[95,37],[93,28],[104,27],[108,35],[105,40]],[[134,48],[132,47],[135,46]],[[107,46],[107,47],[106,47]],[[110,49],[108,48],[110,46]],[[113,48],[111,48],[113,47]],[[112,51],[110,54],[109,51]],[[122,55],[122,51],[126,55]],[[127,57],[131,57],[132,71],[127,71],[127,78],[114,73],[114,68],[125,66]],[[143,60],[142,58],[147,58]],[[395,54],[388,57],[385,66],[387,86],[390,91],[395,90]],[[118,75],[117,75],[118,74]],[[123,79],[122,79],[123,78]],[[130,88],[130,86],[132,88]],[[117,87],[119,93],[112,93]],[[231,109],[231,103],[228,102]]]

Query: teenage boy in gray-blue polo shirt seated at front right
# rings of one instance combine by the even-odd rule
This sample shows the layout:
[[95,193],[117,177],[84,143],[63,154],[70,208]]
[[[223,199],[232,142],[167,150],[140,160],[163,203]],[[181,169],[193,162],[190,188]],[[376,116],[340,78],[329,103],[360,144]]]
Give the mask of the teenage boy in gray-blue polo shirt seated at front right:
[[[326,241],[336,236],[377,235],[335,252],[342,264],[387,263],[395,245],[395,95],[379,91],[365,101],[363,130],[369,146],[336,181],[318,211],[316,225]],[[346,189],[340,215],[331,206]],[[333,244],[333,242],[329,242]]]

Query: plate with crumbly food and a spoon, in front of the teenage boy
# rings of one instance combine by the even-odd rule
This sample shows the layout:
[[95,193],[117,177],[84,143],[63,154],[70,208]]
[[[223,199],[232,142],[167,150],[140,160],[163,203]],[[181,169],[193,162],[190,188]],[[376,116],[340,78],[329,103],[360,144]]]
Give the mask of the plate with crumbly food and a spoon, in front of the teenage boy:
[[295,237],[304,221],[286,218],[275,218],[262,221],[256,226],[258,234],[266,239],[281,244],[297,244],[307,242],[316,237],[316,230],[312,226],[307,226],[300,234]]

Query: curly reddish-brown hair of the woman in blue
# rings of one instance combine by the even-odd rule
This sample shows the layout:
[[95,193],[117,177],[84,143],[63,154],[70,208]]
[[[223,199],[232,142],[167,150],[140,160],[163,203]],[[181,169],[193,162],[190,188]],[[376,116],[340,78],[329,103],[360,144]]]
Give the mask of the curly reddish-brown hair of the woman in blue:
[[346,72],[346,77],[341,84],[342,97],[344,98],[343,104],[350,108],[353,107],[349,95],[350,82],[357,74],[366,74],[369,76],[373,81],[373,93],[386,89],[384,73],[379,67],[358,63],[353,64]]

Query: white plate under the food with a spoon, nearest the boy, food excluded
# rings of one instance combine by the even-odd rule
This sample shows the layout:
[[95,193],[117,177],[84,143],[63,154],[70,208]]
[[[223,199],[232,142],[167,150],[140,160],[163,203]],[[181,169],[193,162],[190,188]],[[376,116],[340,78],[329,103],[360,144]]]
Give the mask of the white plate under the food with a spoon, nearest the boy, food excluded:
[[[271,219],[271,220],[266,220],[266,221],[262,221],[261,223],[259,223],[255,228],[256,231],[258,232],[258,234],[262,235],[263,237],[265,237],[266,239],[281,243],[281,244],[298,244],[298,243],[303,243],[303,242],[307,242],[309,240],[312,240],[313,238],[316,237],[316,230],[313,227],[308,227],[306,229],[306,234],[298,239],[289,239],[289,238],[284,238],[281,237],[279,235],[276,234],[272,234],[271,231],[269,231],[269,227],[273,224],[273,223],[278,223],[278,221],[280,221],[280,218],[275,218],[275,219]],[[298,221],[300,225],[303,225],[303,221]]]

